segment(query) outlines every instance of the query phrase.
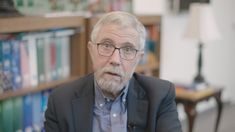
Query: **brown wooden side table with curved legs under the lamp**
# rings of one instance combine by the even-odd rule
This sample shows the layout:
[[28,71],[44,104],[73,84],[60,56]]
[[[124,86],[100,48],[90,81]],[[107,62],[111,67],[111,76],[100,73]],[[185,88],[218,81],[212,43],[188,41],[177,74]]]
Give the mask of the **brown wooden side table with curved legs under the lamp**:
[[215,132],[218,131],[220,117],[223,109],[221,94],[222,88],[217,87],[210,87],[199,91],[192,91],[176,86],[176,103],[183,104],[184,111],[188,118],[188,132],[193,131],[194,121],[197,116],[197,104],[210,98],[214,98],[217,103],[218,112],[214,130]]

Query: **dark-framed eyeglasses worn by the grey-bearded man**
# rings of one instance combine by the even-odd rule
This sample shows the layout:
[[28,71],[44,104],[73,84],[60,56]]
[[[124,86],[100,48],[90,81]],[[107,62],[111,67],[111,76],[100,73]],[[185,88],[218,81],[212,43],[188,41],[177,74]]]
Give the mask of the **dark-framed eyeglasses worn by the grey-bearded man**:
[[133,60],[139,51],[131,46],[117,48],[113,44],[97,43],[98,53],[102,56],[110,57],[116,49],[119,51],[120,57],[124,60]]

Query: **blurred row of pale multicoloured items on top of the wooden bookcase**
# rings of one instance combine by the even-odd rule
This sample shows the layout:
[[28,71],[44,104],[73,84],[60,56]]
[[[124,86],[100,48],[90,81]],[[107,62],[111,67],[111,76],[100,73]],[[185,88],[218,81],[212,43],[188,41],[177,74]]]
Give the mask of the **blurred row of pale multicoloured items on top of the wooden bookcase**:
[[41,15],[50,12],[104,13],[113,10],[132,11],[132,0],[14,0],[23,14]]

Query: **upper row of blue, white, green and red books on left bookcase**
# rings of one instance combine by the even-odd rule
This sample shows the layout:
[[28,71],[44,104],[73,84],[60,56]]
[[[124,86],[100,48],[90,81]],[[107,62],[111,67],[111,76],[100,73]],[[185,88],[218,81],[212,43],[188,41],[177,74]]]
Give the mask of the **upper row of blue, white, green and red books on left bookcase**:
[[73,29],[0,35],[0,93],[70,75]]

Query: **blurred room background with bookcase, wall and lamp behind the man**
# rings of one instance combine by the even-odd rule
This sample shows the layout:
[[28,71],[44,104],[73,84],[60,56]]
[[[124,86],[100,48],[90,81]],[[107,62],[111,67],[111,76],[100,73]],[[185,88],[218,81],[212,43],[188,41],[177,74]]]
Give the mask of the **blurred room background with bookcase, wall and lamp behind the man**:
[[[189,130],[187,106],[181,100],[188,101],[184,98],[188,93],[182,98],[177,94],[183,130],[212,132],[218,126],[218,132],[234,131],[234,5],[234,0],[0,0],[0,132],[44,131],[43,113],[50,91],[91,71],[84,45],[99,15],[113,10],[137,15],[147,28],[147,55],[137,72],[170,80],[186,91],[199,91],[191,97],[205,95],[190,100],[196,118]],[[45,49],[40,51],[40,45]],[[26,53],[28,61],[22,59]],[[44,54],[50,59],[40,60],[48,58]],[[14,55],[18,59],[12,59]],[[24,77],[24,72],[32,78]],[[208,87],[212,92],[203,92]],[[220,123],[215,124],[218,103],[213,97],[218,94],[223,109]],[[21,114],[15,116],[17,112]],[[38,113],[39,117],[33,116]]]

